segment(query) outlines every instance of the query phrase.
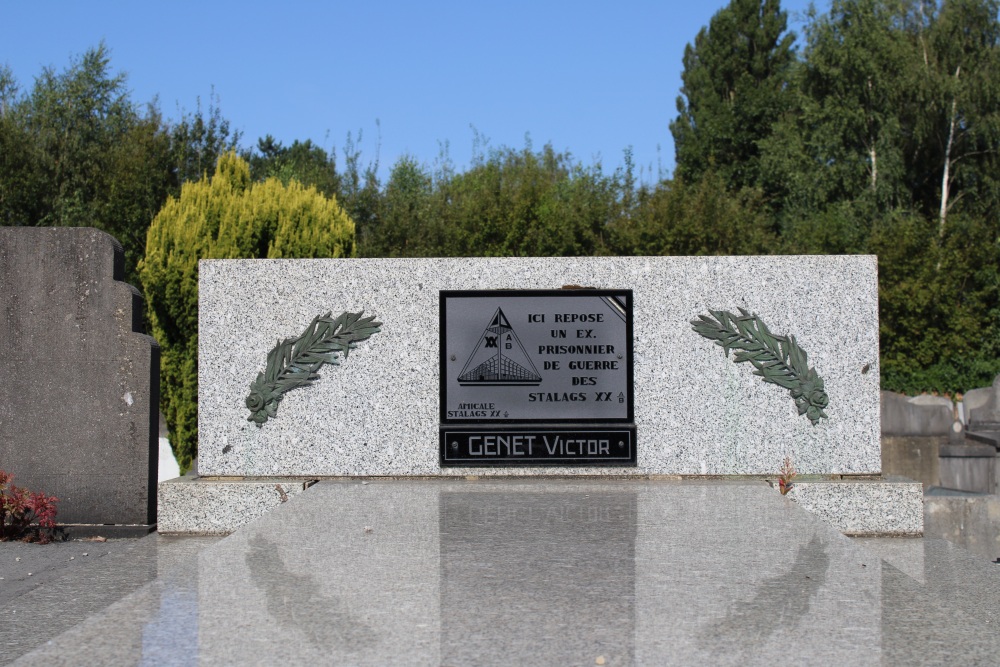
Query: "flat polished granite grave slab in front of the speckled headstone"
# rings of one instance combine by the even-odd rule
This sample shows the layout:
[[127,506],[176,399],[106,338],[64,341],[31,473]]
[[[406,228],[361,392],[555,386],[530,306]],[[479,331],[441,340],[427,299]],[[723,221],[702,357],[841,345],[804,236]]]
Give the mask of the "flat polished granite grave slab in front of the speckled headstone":
[[930,542],[763,483],[323,481],[18,664],[996,664],[1000,566]]

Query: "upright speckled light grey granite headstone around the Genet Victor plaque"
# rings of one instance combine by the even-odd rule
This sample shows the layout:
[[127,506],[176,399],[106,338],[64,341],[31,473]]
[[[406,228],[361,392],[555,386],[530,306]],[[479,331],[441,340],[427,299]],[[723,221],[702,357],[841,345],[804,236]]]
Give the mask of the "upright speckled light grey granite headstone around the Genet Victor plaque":
[[[634,468],[438,465],[443,289],[634,291]],[[709,308],[758,313],[792,334],[826,383],[830,418],[691,329]],[[384,324],[277,417],[244,400],[279,338],[313,317],[364,310]],[[220,476],[878,473],[876,258],[621,257],[207,260],[200,265],[199,470]]]

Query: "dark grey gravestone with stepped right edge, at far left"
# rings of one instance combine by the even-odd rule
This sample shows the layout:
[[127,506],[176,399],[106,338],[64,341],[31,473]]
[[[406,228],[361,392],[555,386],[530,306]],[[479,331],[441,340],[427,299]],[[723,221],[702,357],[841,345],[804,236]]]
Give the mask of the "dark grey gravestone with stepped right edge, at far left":
[[105,534],[156,522],[160,350],[123,278],[104,232],[0,227],[0,468]]

